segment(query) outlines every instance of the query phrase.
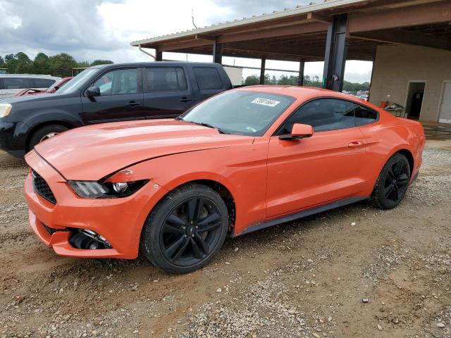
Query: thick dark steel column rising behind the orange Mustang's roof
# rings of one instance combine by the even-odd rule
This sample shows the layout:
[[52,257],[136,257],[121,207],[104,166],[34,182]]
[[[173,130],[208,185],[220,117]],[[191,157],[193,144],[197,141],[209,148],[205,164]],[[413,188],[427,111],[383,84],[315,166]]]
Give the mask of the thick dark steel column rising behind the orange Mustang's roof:
[[327,30],[324,56],[323,88],[341,92],[347,54],[347,14],[333,17]]

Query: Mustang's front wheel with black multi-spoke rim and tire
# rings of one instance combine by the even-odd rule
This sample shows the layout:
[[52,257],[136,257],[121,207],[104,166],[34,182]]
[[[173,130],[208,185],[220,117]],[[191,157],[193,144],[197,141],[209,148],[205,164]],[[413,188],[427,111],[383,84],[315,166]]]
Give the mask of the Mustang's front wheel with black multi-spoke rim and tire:
[[167,273],[192,273],[216,256],[226,239],[228,209],[221,196],[204,184],[173,190],[147,217],[142,254]]

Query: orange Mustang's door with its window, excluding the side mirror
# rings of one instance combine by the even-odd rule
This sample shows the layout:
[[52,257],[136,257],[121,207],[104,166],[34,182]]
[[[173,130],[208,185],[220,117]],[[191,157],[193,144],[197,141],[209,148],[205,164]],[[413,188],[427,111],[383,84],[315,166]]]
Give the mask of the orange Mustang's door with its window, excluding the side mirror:
[[[314,127],[309,138],[282,140],[294,123]],[[364,170],[364,137],[348,101],[317,99],[285,121],[268,149],[268,218],[352,197]]]

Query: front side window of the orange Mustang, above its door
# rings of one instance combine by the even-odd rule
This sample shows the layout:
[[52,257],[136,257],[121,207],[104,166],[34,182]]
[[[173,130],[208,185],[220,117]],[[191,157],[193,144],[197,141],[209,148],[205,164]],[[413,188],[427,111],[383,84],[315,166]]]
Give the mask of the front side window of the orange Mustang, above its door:
[[295,123],[311,125],[315,132],[352,128],[354,127],[354,104],[338,99],[311,101],[288,118],[282,133],[290,133]]

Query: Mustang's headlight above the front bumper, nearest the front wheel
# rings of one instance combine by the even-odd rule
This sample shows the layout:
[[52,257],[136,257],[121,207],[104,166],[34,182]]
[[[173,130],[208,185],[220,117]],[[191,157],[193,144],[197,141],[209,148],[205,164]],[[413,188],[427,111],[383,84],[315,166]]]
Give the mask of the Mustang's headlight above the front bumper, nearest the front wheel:
[[116,199],[134,194],[149,180],[133,182],[94,182],[94,181],[68,181],[70,187],[78,196],[84,199]]

